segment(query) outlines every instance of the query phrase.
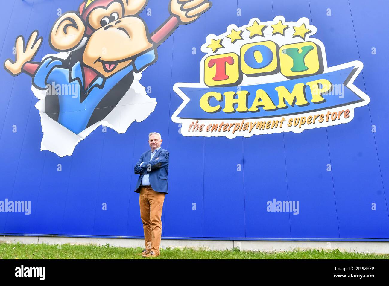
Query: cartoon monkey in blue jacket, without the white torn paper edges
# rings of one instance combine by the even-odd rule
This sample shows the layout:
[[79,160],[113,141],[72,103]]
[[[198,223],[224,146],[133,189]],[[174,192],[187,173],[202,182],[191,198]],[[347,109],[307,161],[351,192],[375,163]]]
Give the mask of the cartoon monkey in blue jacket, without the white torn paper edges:
[[85,0],[78,12],[63,14],[50,32],[49,44],[55,51],[71,51],[66,60],[49,56],[41,63],[32,61],[42,44],[35,30],[26,45],[23,36],[17,37],[15,61],[7,59],[4,68],[13,76],[22,72],[32,76],[33,86],[40,90],[74,85],[77,97],[47,93],[45,113],[78,134],[114,109],[130,88],[133,72],[155,63],[156,48],[179,25],[192,23],[212,6],[208,0],[170,0],[170,17],[149,33],[138,16],[147,2]]

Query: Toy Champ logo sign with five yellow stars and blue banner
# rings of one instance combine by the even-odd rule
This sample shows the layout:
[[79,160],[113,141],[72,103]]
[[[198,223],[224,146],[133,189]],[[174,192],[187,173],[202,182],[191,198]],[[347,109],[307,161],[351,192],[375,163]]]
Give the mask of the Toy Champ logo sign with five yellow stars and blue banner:
[[200,83],[176,83],[184,100],[172,116],[184,136],[295,132],[348,123],[369,97],[353,82],[360,61],[327,67],[323,43],[307,18],[254,18],[208,35]]

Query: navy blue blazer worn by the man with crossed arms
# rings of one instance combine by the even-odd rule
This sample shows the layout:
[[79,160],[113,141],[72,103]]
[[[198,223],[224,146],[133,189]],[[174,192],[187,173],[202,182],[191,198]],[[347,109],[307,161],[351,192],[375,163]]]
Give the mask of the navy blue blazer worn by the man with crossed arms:
[[[168,193],[168,170],[169,170],[169,151],[160,148],[150,161],[151,150],[143,153],[137,165],[135,165],[134,172],[139,174],[135,192],[140,193],[140,184],[142,183],[143,175],[149,172],[149,181],[151,188],[160,193]],[[154,159],[155,158],[155,159]],[[158,158],[158,159],[157,159]],[[142,166],[140,164],[143,162]],[[149,168],[149,171],[147,171]],[[151,170],[151,171],[150,171]]]

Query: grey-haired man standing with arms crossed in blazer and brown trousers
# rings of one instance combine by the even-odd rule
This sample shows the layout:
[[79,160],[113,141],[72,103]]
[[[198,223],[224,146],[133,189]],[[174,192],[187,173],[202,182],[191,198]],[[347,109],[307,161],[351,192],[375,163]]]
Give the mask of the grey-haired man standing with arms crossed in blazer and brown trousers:
[[139,193],[140,218],[145,235],[143,257],[159,256],[162,233],[162,206],[168,193],[169,152],[161,148],[161,134],[149,134],[150,151],[143,153],[134,172],[139,174],[135,192]]

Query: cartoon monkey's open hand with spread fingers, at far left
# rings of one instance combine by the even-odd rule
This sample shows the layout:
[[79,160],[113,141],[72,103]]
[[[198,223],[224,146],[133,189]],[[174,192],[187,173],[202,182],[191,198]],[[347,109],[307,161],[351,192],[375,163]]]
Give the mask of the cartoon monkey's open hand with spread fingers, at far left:
[[38,31],[35,30],[30,35],[27,45],[25,46],[23,36],[19,36],[16,39],[15,49],[15,61],[7,59],[4,62],[4,68],[13,76],[16,76],[22,72],[23,65],[29,61],[32,61],[35,54],[37,54],[40,45],[42,44],[42,37],[37,39]]

